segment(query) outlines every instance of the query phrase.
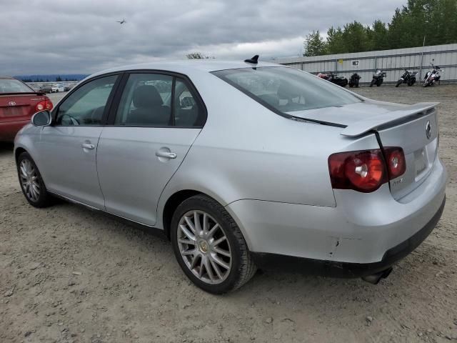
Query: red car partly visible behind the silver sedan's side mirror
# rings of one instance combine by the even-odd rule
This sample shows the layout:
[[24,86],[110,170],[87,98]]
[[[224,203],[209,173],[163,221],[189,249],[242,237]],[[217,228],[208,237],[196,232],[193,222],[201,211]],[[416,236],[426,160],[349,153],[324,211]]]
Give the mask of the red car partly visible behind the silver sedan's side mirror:
[[14,141],[16,133],[29,124],[34,113],[52,106],[46,95],[24,82],[0,76],[0,141]]

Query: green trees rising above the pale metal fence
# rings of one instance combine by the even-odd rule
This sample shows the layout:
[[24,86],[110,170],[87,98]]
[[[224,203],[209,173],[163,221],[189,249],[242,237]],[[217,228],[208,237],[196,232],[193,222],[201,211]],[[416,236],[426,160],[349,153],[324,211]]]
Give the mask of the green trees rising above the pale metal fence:
[[319,31],[306,35],[303,56],[344,54],[457,43],[457,0],[408,0],[396,9],[389,23],[376,20],[371,26],[358,21],[343,28],[328,29],[326,39]]

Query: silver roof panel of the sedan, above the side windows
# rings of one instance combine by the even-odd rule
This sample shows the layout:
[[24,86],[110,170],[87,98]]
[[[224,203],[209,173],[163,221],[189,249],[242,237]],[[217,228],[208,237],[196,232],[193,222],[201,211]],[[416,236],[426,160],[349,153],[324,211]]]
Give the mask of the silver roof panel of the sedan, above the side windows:
[[[99,71],[89,76],[89,78],[102,74],[114,73],[116,71],[129,71],[129,70],[162,70],[172,71],[181,74],[188,72],[211,72],[224,69],[239,69],[239,68],[253,68],[260,66],[282,66],[281,64],[274,64],[268,62],[258,62],[258,64],[246,63],[244,61],[222,61],[217,59],[184,59],[181,61],[156,61],[141,64],[130,64],[126,66],[117,66],[115,68]],[[88,79],[89,79],[88,78]]]

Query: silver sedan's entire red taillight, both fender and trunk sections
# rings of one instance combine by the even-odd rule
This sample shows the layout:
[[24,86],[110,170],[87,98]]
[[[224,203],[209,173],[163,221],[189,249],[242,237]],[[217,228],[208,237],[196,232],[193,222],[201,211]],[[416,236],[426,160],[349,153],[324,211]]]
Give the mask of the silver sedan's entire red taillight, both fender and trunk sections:
[[406,171],[403,149],[389,147],[384,152],[383,155],[381,149],[373,149],[330,155],[328,169],[332,188],[370,193],[389,179],[401,176]]

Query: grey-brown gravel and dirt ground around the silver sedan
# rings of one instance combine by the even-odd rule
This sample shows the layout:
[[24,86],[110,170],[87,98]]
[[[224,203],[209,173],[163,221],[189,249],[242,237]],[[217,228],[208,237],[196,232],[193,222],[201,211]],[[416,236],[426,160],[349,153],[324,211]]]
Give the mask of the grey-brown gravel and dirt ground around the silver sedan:
[[206,294],[163,239],[72,204],[30,207],[3,145],[0,342],[457,342],[457,86],[357,91],[441,101],[446,209],[388,279],[265,272],[238,292]]

